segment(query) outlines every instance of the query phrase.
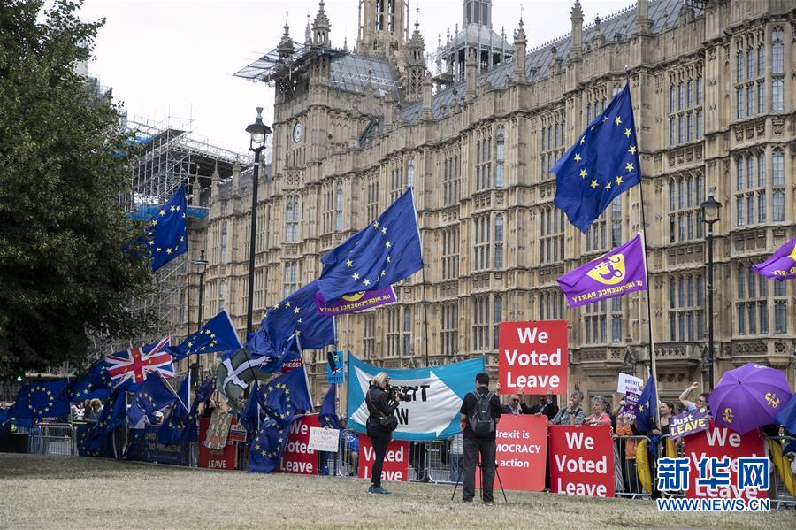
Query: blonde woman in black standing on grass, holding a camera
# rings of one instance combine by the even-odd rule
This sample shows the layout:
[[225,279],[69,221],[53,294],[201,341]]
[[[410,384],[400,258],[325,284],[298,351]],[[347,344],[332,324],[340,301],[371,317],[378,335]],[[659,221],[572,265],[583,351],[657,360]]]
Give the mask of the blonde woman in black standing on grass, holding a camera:
[[381,487],[381,468],[384,466],[384,457],[387,455],[387,445],[393,437],[393,431],[398,426],[398,419],[394,411],[398,408],[403,396],[400,392],[390,387],[390,377],[386,372],[379,372],[371,380],[371,387],[365,395],[368,405],[368,436],[373,444],[373,475],[368,493],[388,495],[390,492]]

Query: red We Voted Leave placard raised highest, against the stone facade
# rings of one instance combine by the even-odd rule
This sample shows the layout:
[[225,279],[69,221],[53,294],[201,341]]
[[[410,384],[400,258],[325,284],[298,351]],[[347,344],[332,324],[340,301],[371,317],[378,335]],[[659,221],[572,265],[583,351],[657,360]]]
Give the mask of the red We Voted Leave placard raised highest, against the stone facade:
[[567,321],[501,322],[498,334],[501,394],[567,393]]

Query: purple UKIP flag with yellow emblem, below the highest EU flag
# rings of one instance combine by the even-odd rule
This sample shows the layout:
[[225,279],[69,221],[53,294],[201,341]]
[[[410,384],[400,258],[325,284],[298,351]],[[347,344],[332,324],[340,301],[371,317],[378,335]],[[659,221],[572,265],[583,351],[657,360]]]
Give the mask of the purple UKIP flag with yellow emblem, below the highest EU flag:
[[580,265],[557,281],[570,307],[645,290],[647,279],[641,234],[608,254]]

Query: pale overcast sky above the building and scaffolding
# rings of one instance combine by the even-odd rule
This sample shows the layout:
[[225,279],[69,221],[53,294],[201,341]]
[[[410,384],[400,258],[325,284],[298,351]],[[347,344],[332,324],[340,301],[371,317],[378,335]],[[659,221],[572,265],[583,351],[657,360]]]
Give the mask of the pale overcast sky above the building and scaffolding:
[[[529,48],[570,33],[574,0],[524,0],[523,19]],[[509,42],[520,17],[518,0],[494,0],[493,26],[505,27]],[[600,14],[635,4],[634,0],[582,0],[585,24]],[[444,42],[446,29],[462,25],[461,0],[409,2],[411,23],[420,8],[420,32],[426,51]],[[157,122],[167,116],[193,117],[198,138],[230,150],[245,151],[243,132],[255,117],[255,107],[265,107],[272,119],[273,92],[264,83],[233,77],[279,42],[286,19],[290,33],[304,40],[307,12],[318,12],[317,1],[285,0],[86,0],[82,19],[107,19],[96,40],[90,73],[113,88],[131,117]],[[356,0],[331,0],[325,11],[332,24],[332,42],[341,47],[356,42]],[[412,26],[411,29],[414,29]]]

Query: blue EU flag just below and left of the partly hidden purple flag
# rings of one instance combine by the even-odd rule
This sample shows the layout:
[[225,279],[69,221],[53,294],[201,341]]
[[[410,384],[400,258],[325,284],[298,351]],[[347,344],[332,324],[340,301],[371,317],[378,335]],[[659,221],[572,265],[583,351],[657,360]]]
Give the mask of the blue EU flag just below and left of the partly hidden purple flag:
[[303,349],[334,344],[334,319],[318,313],[317,292],[318,281],[312,281],[269,309],[256,334],[246,343],[249,354],[282,357],[294,334],[301,339]]

